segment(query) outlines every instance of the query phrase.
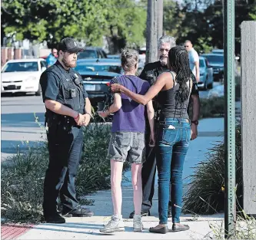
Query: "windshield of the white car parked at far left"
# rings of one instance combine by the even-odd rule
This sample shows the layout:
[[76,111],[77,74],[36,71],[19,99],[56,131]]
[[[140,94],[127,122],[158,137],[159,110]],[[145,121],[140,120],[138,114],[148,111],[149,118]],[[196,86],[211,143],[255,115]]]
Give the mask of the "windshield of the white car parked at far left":
[[8,63],[3,68],[2,73],[12,73],[15,71],[38,71],[38,62],[25,61]]

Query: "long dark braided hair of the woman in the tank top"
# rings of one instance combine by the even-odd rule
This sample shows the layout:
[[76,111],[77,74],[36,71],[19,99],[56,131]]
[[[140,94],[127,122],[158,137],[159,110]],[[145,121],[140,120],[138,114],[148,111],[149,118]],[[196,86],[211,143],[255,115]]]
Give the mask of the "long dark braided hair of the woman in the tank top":
[[189,88],[187,82],[191,78],[191,70],[189,67],[188,51],[184,47],[176,46],[171,48],[168,53],[169,64],[172,71],[175,71],[175,81],[179,84],[176,92],[176,103],[183,103],[188,99]]

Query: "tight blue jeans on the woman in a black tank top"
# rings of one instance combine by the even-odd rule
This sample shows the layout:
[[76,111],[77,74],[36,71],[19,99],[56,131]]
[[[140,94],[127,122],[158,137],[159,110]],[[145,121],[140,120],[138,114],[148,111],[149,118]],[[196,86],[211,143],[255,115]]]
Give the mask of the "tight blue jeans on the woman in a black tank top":
[[160,224],[168,222],[170,179],[172,222],[180,222],[182,171],[190,139],[191,127],[187,119],[165,118],[159,122],[156,161]]

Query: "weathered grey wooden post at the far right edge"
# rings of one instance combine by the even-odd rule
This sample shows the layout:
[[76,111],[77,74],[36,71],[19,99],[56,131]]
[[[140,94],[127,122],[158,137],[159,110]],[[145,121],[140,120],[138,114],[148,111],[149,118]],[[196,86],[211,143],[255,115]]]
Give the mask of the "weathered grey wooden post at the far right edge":
[[241,137],[244,212],[256,215],[256,21],[241,24]]

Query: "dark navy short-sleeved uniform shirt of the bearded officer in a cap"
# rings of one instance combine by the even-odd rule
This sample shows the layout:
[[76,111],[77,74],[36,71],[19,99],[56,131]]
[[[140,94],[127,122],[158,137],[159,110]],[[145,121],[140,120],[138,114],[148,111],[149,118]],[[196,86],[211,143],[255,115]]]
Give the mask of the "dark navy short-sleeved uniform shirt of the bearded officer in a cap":
[[88,94],[81,75],[74,69],[67,71],[57,61],[42,73],[40,84],[44,102],[46,99],[55,100],[81,114],[85,113],[85,98]]

